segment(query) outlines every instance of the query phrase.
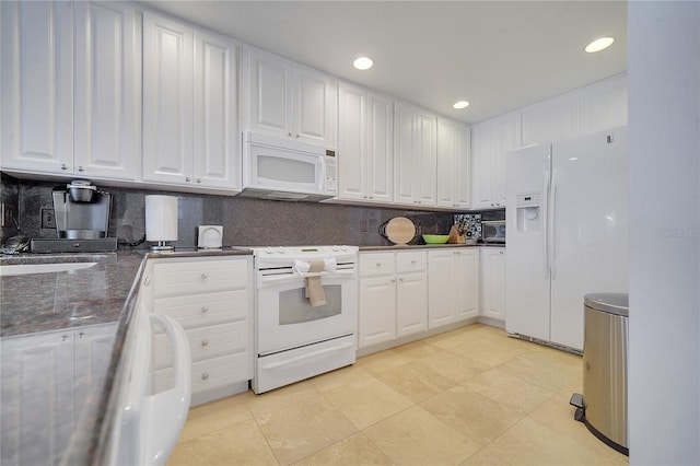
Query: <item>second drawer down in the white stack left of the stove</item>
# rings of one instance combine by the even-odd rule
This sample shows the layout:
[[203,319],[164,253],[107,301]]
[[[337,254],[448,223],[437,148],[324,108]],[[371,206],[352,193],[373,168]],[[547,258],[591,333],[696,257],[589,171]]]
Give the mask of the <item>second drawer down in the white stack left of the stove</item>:
[[248,291],[235,290],[153,300],[153,312],[175,317],[183,328],[248,318]]

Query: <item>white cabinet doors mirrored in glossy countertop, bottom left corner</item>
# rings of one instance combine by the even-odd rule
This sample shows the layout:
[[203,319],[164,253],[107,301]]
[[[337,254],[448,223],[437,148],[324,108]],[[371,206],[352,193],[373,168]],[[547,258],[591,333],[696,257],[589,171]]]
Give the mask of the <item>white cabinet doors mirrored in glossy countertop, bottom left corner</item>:
[[0,341],[2,465],[60,463],[82,406],[105,381],[115,330],[106,324]]

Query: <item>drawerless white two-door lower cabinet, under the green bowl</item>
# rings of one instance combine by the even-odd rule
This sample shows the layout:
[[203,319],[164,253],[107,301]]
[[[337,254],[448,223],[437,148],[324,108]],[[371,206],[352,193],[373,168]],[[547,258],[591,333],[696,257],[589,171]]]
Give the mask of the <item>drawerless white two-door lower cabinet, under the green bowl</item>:
[[428,323],[430,328],[479,315],[479,249],[428,252]]

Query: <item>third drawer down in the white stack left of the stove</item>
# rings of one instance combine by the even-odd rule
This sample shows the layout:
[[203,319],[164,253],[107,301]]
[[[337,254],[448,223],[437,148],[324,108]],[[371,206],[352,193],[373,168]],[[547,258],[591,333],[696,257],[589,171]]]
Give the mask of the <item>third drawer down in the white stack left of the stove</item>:
[[[233,322],[211,327],[185,330],[192,362],[202,361],[217,356],[246,351],[248,348],[248,322]],[[167,368],[172,364],[173,351],[165,334],[153,337],[155,369]]]

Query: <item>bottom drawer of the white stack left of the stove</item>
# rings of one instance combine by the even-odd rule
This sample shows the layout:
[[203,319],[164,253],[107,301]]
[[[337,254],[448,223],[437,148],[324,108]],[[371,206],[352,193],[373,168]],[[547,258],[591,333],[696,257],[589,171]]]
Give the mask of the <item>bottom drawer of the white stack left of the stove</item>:
[[[192,394],[233,385],[252,378],[252,356],[241,352],[192,362]],[[153,388],[160,393],[173,387],[173,369],[161,369],[153,374]]]

